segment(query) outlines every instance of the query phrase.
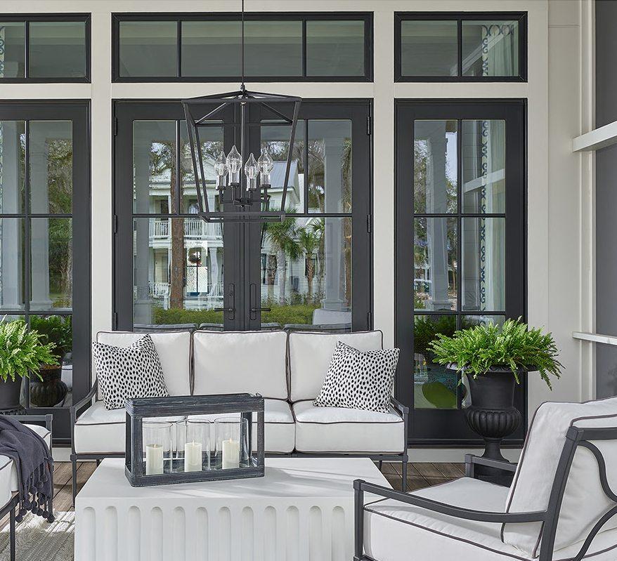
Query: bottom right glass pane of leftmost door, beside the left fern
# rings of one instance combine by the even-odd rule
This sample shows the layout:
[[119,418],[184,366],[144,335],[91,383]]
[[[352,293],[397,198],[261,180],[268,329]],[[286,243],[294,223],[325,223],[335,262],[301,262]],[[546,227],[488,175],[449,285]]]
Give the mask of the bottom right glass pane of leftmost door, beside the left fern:
[[53,349],[57,365],[46,365],[37,376],[30,378],[30,404],[32,407],[69,407],[73,387],[73,329],[70,315],[30,316],[30,329],[44,336],[45,343],[56,345]]

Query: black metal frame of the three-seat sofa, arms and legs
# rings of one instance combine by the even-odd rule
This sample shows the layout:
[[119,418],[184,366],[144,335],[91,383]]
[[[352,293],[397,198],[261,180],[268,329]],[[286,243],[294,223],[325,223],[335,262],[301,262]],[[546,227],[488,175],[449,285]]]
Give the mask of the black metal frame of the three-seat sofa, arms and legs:
[[[92,388],[88,392],[88,395],[79,400],[79,402],[75,403],[70,407],[70,418],[71,418],[71,468],[72,468],[72,495],[73,495],[73,506],[75,504],[75,496],[77,496],[77,461],[91,461],[95,460],[98,464],[101,460],[105,458],[124,458],[124,452],[118,453],[98,453],[98,454],[87,454],[87,453],[78,453],[75,451],[75,423],[77,422],[77,414],[79,411],[86,407],[86,405],[91,404],[93,400],[96,400],[96,395],[98,391],[98,381],[95,380]],[[292,458],[346,458],[346,457],[356,457],[356,458],[370,458],[373,461],[378,461],[379,466],[381,466],[382,461],[400,461],[402,465],[403,471],[403,491],[407,488],[407,463],[409,461],[408,456],[408,448],[407,448],[407,437],[408,437],[408,415],[409,415],[409,407],[403,405],[401,402],[396,400],[395,397],[390,398],[391,406],[394,410],[401,416],[403,419],[403,451],[400,454],[373,454],[367,452],[366,454],[345,454],[345,453],[324,453],[324,454],[313,454],[313,453],[304,453],[304,452],[290,452],[290,454],[267,454],[266,457],[281,457],[281,456],[290,456]]]

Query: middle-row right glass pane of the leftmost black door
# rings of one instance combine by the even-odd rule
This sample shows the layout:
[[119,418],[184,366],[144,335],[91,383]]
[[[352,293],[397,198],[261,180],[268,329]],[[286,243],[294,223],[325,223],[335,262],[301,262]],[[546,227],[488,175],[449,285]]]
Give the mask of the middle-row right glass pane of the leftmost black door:
[[30,309],[70,310],[73,296],[71,218],[30,219]]

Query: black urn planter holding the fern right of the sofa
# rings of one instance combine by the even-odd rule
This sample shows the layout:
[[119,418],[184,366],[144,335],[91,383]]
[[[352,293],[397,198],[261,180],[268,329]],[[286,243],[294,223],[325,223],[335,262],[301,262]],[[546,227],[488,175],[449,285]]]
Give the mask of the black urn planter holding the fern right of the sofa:
[[465,418],[484,440],[483,458],[507,461],[501,454],[501,442],[522,421],[521,411],[514,407],[517,380],[509,369],[492,369],[477,378],[467,376],[467,381],[472,404],[465,409]]

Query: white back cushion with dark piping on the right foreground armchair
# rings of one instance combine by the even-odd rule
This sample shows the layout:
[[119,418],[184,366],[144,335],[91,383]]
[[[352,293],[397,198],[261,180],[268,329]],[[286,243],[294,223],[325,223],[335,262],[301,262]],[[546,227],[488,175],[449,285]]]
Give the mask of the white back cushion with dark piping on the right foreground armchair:
[[[617,427],[617,397],[587,403],[544,403],[538,408],[509,490],[506,512],[547,508],[566,433],[571,426]],[[617,489],[617,442],[604,440],[593,444],[604,455],[611,488]],[[585,539],[597,520],[612,506],[614,503],[602,491],[595,456],[579,446],[566,482],[554,550]],[[615,527],[617,517],[606,522],[602,530]],[[541,522],[505,524],[502,537],[505,543],[536,557],[540,553],[542,531]]]

